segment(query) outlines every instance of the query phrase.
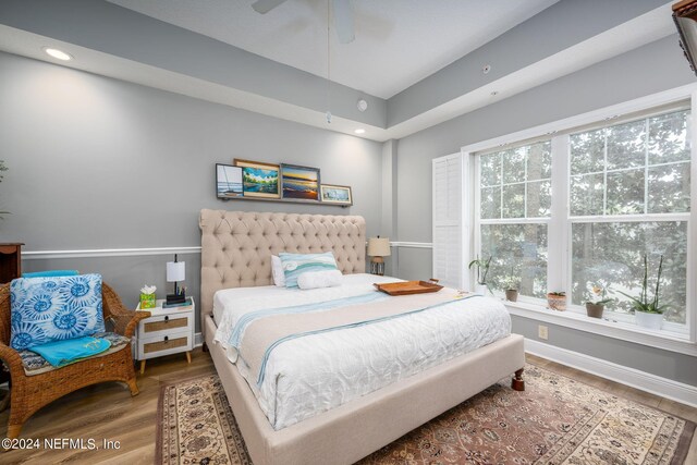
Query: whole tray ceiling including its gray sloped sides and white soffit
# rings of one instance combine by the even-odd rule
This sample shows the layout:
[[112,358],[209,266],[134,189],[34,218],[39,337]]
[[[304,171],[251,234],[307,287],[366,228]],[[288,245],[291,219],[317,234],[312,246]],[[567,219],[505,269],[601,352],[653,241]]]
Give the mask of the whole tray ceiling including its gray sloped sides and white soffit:
[[329,83],[327,0],[253,1],[1,0],[0,51],[383,142],[675,35],[665,0],[350,0]]

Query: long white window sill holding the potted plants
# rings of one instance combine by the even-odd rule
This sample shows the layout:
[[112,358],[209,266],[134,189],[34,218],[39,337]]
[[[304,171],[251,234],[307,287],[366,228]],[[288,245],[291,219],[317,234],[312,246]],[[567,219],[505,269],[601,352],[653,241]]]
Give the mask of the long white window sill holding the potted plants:
[[545,321],[552,325],[572,328],[578,331],[591,332],[607,338],[648,345],[686,355],[697,355],[697,344],[689,341],[687,335],[671,333],[668,331],[656,332],[635,325],[620,321],[610,321],[599,318],[590,318],[575,311],[557,311],[541,305],[523,302],[503,303],[511,315]]

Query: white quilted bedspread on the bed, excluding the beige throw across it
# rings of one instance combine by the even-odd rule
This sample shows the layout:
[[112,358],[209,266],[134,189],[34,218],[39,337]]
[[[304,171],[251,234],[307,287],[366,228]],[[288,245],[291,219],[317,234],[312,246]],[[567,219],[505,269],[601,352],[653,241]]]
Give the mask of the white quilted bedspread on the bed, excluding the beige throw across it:
[[230,331],[244,314],[262,308],[360,295],[374,282],[398,281],[348,274],[339,287],[308,291],[276,286],[219,291],[213,298],[215,341],[228,350],[274,429],[293,425],[384,386],[504,338],[511,332],[505,307],[473,297],[421,313],[292,339],[277,346],[259,388],[243,359],[228,347]]

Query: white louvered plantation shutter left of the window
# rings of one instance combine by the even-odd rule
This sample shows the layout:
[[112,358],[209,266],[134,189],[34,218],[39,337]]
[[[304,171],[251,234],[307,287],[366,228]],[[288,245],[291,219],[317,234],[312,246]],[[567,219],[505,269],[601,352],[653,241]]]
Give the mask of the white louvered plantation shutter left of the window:
[[461,154],[432,160],[433,278],[464,289],[464,163]]

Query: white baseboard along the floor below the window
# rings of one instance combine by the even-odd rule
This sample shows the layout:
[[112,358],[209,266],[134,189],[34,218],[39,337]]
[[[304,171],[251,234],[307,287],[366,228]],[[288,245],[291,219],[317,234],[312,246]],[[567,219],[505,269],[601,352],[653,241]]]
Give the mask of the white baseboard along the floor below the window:
[[525,352],[548,360],[597,375],[602,378],[660,395],[682,404],[697,407],[697,387],[673,381],[668,378],[624,367],[601,358],[591,357],[578,352],[525,339]]

